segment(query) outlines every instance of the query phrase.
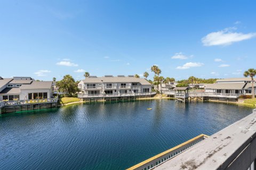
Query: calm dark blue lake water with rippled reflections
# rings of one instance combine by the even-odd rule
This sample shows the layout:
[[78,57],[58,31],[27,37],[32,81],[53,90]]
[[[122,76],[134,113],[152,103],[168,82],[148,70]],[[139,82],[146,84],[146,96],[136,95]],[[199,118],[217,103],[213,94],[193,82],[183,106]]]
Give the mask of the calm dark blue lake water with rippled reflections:
[[4,114],[0,169],[125,169],[251,113],[236,105],[162,99]]

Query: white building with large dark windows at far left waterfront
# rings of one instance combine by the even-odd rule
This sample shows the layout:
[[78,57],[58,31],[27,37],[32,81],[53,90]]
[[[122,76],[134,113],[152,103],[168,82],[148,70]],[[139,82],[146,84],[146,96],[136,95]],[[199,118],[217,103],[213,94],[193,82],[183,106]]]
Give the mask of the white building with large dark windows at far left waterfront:
[[52,81],[35,81],[30,77],[0,77],[0,101],[51,98]]

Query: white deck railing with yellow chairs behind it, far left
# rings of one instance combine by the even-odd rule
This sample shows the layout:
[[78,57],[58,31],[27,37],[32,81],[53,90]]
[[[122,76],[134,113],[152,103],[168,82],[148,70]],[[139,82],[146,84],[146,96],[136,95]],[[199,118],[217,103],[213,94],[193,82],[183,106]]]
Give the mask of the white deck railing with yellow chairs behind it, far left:
[[20,105],[29,105],[29,104],[43,104],[43,103],[57,103],[58,98],[47,98],[47,99],[31,99],[31,100],[10,100],[10,101],[1,101],[0,107],[4,106],[20,106]]

